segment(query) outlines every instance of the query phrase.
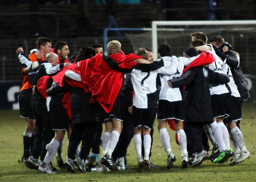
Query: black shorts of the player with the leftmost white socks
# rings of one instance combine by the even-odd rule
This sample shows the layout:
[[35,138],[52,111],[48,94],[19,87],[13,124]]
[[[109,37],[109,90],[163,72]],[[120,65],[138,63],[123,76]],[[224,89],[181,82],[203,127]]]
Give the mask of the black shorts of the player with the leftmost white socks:
[[63,95],[54,95],[50,101],[50,112],[52,116],[53,130],[68,130],[68,123],[70,122],[67,110],[63,107],[61,101]]

